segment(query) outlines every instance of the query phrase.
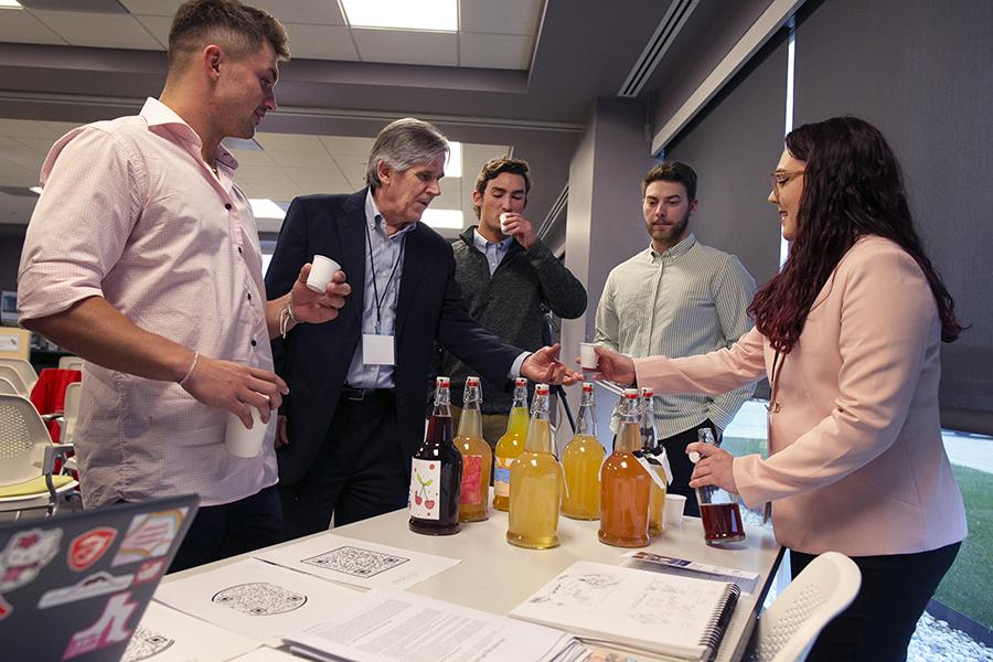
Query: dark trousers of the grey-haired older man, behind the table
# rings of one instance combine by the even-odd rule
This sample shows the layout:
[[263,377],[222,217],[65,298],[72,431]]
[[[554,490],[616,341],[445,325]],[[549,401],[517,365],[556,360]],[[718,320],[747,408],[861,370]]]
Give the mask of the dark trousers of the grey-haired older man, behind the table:
[[310,471],[279,485],[286,540],[327,531],[332,514],[342,526],[406,506],[407,467],[393,392],[342,394]]

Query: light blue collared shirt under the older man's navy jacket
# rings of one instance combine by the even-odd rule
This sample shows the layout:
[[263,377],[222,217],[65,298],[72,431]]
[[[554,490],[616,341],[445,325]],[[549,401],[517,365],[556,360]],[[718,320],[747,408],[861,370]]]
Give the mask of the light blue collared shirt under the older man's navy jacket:
[[[362,303],[362,333],[394,335],[396,302],[404,275],[404,245],[407,233],[417,222],[408,223],[392,236],[372,190],[365,196],[365,291]],[[375,286],[373,285],[375,284]],[[378,296],[378,311],[376,297]],[[352,356],[348,384],[356,388],[393,388],[392,365],[366,365],[362,362],[362,343]]]

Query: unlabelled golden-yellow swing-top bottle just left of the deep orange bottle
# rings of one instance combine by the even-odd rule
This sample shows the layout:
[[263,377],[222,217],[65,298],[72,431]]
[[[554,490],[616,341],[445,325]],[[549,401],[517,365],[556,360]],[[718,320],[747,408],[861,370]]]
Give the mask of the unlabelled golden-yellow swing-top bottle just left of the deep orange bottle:
[[566,484],[562,496],[562,514],[574,520],[600,519],[600,465],[604,463],[604,446],[596,437],[594,407],[592,384],[585,382],[576,436],[562,452]]

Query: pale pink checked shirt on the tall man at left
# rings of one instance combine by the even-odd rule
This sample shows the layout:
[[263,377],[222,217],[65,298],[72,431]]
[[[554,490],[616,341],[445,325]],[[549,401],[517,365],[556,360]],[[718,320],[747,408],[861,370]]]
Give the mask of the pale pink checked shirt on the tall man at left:
[[[98,296],[204,356],[273,370],[261,250],[232,181],[237,162],[218,147],[215,178],[201,147],[151,98],[140,115],[60,139],[21,255],[21,320]],[[263,452],[239,459],[224,450],[226,420],[178,384],[87,362],[76,433],[85,505],[191,492],[216,505],[275,484],[275,423]]]

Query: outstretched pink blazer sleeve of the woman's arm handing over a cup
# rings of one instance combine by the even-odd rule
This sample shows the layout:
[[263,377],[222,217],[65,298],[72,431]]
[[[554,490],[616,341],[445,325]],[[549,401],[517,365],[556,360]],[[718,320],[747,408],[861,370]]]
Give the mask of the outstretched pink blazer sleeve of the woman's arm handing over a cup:
[[634,360],[639,386],[656,394],[706,393],[717,395],[759,381],[766,374],[762,334],[752,329],[728,349],[707,354]]

